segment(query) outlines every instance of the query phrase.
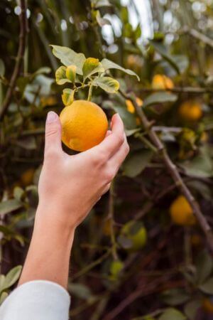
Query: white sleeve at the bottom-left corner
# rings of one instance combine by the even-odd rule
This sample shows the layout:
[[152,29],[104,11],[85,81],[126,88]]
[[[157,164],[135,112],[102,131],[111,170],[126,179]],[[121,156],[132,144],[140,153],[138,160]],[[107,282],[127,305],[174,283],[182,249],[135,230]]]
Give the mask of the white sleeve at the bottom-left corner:
[[35,280],[16,288],[0,307],[1,320],[68,320],[70,295],[55,282]]

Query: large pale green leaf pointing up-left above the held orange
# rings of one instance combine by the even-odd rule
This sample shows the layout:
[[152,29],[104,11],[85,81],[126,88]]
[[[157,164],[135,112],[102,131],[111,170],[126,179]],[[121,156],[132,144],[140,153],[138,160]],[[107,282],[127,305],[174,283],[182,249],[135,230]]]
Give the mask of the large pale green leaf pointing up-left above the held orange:
[[82,68],[84,65],[84,61],[86,60],[85,55],[83,53],[76,53],[74,50],[63,47],[63,46],[53,46],[53,55],[60,59],[63,65],[76,65],[77,74],[82,75]]

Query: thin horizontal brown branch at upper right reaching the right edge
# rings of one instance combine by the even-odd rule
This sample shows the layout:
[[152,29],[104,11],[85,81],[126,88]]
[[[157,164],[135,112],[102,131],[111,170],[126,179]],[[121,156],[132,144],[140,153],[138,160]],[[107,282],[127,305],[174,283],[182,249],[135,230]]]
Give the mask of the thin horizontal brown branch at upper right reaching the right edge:
[[213,95],[213,89],[210,87],[173,87],[173,89],[153,89],[152,87],[143,87],[139,92],[173,92],[173,93],[189,93],[195,95],[203,95],[210,93]]

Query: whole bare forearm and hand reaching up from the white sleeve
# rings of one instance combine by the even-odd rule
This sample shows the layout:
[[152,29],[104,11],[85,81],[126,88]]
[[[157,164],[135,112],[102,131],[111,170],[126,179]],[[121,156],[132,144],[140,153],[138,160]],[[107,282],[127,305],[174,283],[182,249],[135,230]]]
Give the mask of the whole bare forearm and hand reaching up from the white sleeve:
[[67,287],[75,229],[109,190],[128,152],[118,114],[112,118],[111,131],[101,144],[75,156],[62,151],[60,120],[54,112],[48,114],[39,205],[19,285],[44,279]]

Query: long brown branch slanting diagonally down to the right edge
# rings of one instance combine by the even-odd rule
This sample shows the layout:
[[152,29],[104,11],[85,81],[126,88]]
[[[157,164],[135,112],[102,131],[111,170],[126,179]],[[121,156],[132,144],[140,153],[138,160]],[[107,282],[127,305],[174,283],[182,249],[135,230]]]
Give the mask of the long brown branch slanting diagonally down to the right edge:
[[148,121],[146,114],[143,112],[141,107],[139,107],[138,103],[136,102],[136,98],[133,97],[133,95],[127,95],[122,90],[119,90],[119,92],[126,100],[131,100],[131,102],[133,103],[136,113],[138,114],[138,117],[141,120],[141,124],[143,125],[143,128],[146,130],[148,137],[151,139],[151,142],[158,149],[158,154],[163,158],[165,166],[170,172],[170,176],[172,176],[173,180],[175,181],[175,185],[178,188],[180,188],[180,191],[185,196],[185,198],[187,198],[187,201],[190,203],[193,213],[195,214],[197,221],[200,224],[200,227],[202,228],[204,234],[206,235],[209,248],[213,252],[212,229],[210,228],[209,223],[207,223],[206,218],[204,218],[204,215],[202,214],[197,201],[192,196],[192,193],[190,192],[189,188],[187,188],[184,181],[182,180],[182,177],[178,172],[177,166],[175,166],[175,164],[173,164],[173,161],[171,161],[170,156],[168,155],[168,152],[165,149],[165,146],[163,145],[158,135],[155,133],[155,131],[151,127],[151,122]]

